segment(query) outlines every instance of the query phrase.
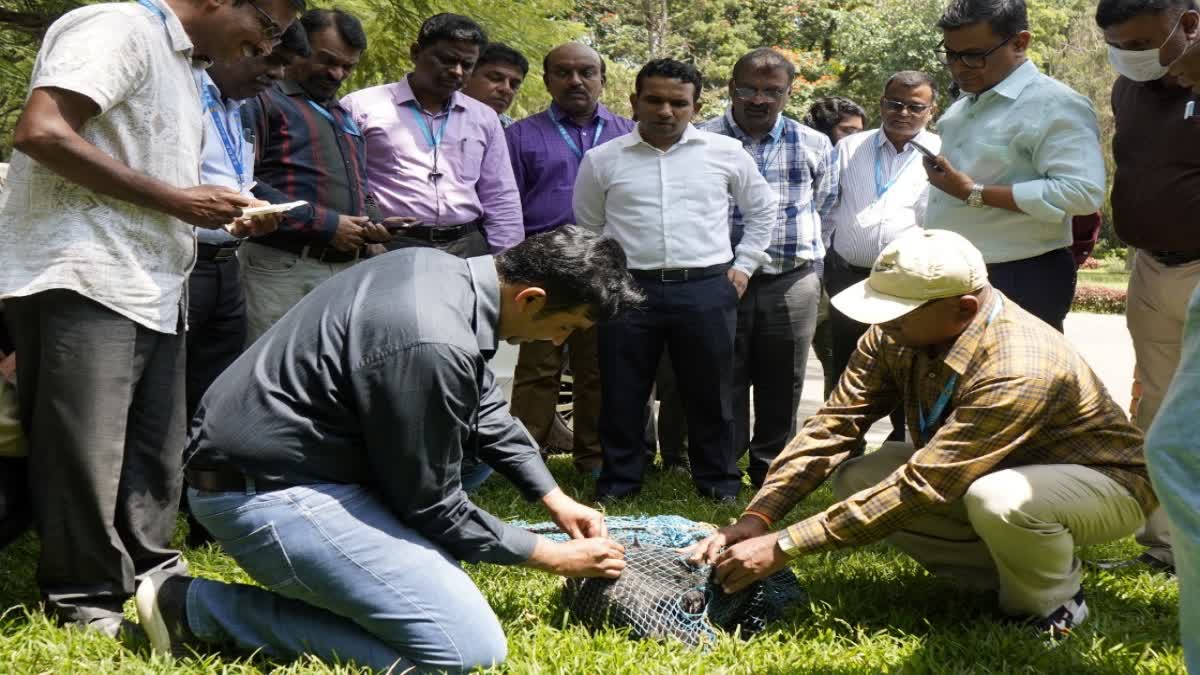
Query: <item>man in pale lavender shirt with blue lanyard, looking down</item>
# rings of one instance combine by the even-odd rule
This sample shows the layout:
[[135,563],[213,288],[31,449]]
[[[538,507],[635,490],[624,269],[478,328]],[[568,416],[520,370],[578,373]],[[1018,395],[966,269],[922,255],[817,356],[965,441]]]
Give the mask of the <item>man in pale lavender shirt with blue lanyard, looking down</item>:
[[486,44],[469,18],[434,14],[412,46],[413,72],[342,98],[366,139],[367,178],[392,231],[389,249],[436,246],[470,257],[524,239],[500,120],[460,91]]

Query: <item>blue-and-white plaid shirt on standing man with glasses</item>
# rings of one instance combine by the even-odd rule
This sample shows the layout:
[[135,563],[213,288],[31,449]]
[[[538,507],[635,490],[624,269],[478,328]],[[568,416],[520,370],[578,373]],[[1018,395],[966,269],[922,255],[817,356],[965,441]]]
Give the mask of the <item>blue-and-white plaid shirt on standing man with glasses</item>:
[[[775,129],[755,142],[737,123],[733,110],[700,125],[701,130],[742,142],[758,165],[758,173],[779,195],[779,220],[770,235],[770,262],[762,274],[782,274],[805,263],[818,271],[829,244],[829,213],[838,203],[838,162],[833,161],[829,139],[800,123],[779,117]],[[732,205],[730,238],[734,247],[742,240],[742,213]]]

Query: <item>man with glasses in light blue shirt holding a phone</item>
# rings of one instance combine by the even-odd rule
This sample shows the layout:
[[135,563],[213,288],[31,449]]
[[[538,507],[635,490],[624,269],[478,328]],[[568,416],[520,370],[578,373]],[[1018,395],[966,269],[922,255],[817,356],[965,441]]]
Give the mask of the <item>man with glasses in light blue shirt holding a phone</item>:
[[1038,70],[1025,0],[953,0],[938,56],[962,96],[942,115],[942,155],[925,160],[925,227],[958,232],[992,283],[1062,330],[1075,291],[1070,219],[1104,201],[1092,103]]

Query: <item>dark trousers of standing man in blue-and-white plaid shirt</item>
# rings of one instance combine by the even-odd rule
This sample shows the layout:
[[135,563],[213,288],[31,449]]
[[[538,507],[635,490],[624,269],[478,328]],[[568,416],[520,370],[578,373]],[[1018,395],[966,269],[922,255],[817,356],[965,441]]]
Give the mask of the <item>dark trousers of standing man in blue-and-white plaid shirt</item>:
[[796,435],[820,301],[821,281],[809,264],[786,274],[751,276],[738,303],[733,442],[739,455],[750,453],[746,473],[754,485],[762,485],[770,462]]

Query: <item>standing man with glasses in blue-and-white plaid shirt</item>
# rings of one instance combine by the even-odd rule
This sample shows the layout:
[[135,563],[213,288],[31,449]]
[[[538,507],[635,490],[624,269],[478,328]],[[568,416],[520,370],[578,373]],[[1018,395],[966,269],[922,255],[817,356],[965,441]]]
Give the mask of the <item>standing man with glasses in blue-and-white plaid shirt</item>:
[[[779,195],[770,261],[750,277],[738,303],[733,351],[733,442],[749,450],[748,474],[761,486],[775,455],[796,434],[796,413],[821,303],[820,264],[838,198],[829,139],[780,113],[792,92],[796,66],[774,49],[755,49],[733,65],[732,104],[700,126],[742,143],[758,173]],[[745,229],[742,210],[730,214],[734,246]],[[754,429],[750,387],[754,386]]]

